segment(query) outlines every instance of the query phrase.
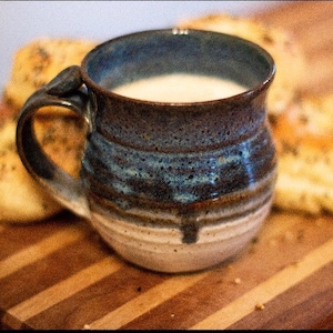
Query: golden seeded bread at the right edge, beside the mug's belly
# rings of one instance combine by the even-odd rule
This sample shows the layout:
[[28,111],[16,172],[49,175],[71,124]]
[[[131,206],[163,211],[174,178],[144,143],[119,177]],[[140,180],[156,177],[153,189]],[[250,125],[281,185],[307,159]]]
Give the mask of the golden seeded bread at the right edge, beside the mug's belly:
[[333,213],[333,93],[303,95],[274,123],[279,157],[274,205]]

